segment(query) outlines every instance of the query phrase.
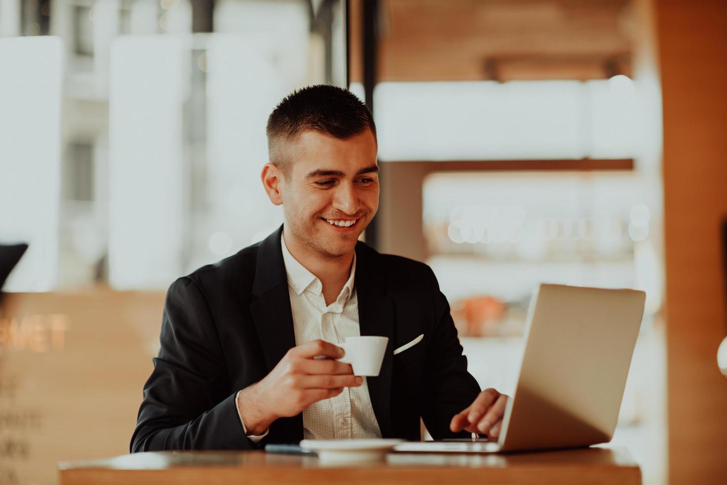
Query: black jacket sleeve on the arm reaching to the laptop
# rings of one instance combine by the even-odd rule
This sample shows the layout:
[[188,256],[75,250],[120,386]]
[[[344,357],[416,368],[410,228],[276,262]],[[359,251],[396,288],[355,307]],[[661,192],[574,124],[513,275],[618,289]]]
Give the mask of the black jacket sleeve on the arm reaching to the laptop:
[[466,437],[469,433],[452,433],[449,423],[454,414],[475,401],[480,393],[480,385],[467,372],[467,357],[462,355],[457,329],[449,314],[449,303],[439,290],[434,273],[429,271],[435,324],[425,364],[425,375],[431,376],[427,379],[425,396],[431,401],[424,406],[422,420],[435,439]]

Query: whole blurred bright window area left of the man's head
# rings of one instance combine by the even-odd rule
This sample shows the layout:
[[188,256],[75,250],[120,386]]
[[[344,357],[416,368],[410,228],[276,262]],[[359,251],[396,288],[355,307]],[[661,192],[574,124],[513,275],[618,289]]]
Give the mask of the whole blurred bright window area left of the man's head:
[[[8,288],[108,274],[164,289],[276,229],[259,177],[268,115],[345,79],[341,2],[324,3],[210,2],[214,32],[192,34],[190,0],[69,0],[52,5],[58,37],[0,39],[0,202],[20,206],[0,240],[31,243]],[[47,0],[9,4],[0,35],[43,32]]]

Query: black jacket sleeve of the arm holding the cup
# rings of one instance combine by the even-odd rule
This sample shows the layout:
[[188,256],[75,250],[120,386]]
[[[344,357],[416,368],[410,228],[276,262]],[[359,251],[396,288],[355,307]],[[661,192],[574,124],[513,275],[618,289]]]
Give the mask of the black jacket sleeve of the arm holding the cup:
[[144,386],[131,452],[253,449],[236,407],[212,313],[190,278],[166,294],[161,349]]

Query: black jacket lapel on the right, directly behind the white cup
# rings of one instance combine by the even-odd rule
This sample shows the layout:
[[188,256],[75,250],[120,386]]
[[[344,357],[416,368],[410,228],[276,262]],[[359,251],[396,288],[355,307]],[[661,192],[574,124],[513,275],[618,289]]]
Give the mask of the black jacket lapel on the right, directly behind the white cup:
[[377,253],[364,244],[356,245],[356,294],[358,326],[361,335],[389,337],[384,361],[377,377],[367,377],[371,406],[382,438],[392,437],[391,380],[394,345],[394,302],[385,294],[384,281],[377,268]]

